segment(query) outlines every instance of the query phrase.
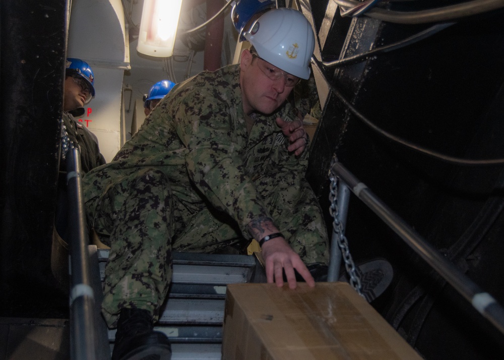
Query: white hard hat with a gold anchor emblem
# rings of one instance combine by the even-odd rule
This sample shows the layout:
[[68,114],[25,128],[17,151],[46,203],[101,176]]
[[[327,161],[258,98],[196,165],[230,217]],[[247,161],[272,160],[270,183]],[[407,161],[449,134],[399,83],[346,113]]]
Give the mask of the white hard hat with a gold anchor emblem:
[[270,10],[243,36],[254,46],[259,57],[271,65],[298,78],[309,78],[308,65],[315,39],[310,23],[299,11],[290,8]]

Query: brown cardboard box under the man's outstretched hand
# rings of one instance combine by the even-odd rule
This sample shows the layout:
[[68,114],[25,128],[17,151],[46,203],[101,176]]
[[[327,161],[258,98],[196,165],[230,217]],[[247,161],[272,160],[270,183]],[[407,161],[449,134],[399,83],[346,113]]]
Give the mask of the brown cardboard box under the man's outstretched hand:
[[421,357],[349,284],[320,282],[228,285],[222,359]]

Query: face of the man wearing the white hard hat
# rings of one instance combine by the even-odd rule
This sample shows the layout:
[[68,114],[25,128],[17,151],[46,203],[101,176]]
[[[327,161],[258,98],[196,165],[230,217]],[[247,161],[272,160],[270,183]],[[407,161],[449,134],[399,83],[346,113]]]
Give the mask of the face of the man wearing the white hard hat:
[[[248,50],[243,50],[241,54],[240,70],[241,97],[246,114],[255,111],[271,114],[282,105],[293,89],[293,86],[285,85],[286,79],[297,82],[296,77],[253,56]],[[281,76],[273,80],[271,74]]]

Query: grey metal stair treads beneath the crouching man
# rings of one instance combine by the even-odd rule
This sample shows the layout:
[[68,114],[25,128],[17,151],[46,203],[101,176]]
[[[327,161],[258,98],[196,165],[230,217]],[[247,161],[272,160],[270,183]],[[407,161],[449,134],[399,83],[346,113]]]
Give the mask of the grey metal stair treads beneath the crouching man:
[[[108,250],[98,249],[103,280]],[[173,253],[170,293],[155,329],[172,343],[172,359],[220,359],[226,285],[266,282],[258,257]],[[108,330],[110,349],[115,330]]]

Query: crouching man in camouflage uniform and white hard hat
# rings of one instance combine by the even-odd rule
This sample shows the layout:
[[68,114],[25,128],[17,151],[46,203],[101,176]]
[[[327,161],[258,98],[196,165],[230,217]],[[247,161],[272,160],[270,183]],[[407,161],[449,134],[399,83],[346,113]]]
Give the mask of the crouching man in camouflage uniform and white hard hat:
[[[285,39],[298,46],[300,63],[287,70],[261,58],[268,56],[261,30],[285,37],[279,19],[294,36],[304,26],[304,38]],[[111,248],[102,310],[118,327],[113,359],[147,343],[157,344],[156,354],[168,352],[168,340],[152,327],[140,335],[128,329],[139,318],[158,319],[172,251],[211,253],[263,239],[268,281],[282,286],[284,270],[291,288],[294,269],[313,286],[305,264],[328,261],[322,212],[304,176],[306,133],[299,120],[277,119],[294,118],[285,100],[309,76],[311,27],[292,9],[258,22],[259,31],[248,34],[256,48],[244,50],[239,65],[177,84],[114,160],[83,179],[88,218]]]

